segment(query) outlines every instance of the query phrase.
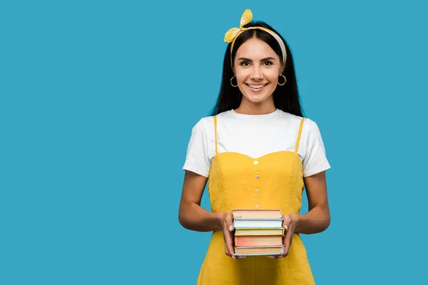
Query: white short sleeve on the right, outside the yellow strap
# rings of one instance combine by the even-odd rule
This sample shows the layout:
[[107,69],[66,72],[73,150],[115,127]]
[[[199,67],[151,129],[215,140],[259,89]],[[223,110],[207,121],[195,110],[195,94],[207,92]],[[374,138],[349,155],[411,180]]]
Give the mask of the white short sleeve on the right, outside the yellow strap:
[[324,142],[317,123],[307,119],[307,143],[303,164],[303,177],[315,175],[330,169],[330,163],[325,154]]

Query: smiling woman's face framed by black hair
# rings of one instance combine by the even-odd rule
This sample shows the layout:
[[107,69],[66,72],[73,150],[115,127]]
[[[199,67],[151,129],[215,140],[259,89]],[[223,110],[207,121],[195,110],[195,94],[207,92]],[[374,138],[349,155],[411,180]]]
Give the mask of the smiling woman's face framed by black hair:
[[258,38],[250,38],[238,48],[234,66],[238,88],[254,103],[272,95],[282,71],[280,57]]

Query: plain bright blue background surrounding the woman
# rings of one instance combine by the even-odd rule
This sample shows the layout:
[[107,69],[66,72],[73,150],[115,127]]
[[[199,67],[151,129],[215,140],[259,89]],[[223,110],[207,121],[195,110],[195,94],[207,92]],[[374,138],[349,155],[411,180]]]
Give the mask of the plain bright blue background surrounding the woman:
[[317,284],[423,282],[423,1],[1,1],[0,284],[195,284],[181,167],[245,9],[290,44],[332,165]]

